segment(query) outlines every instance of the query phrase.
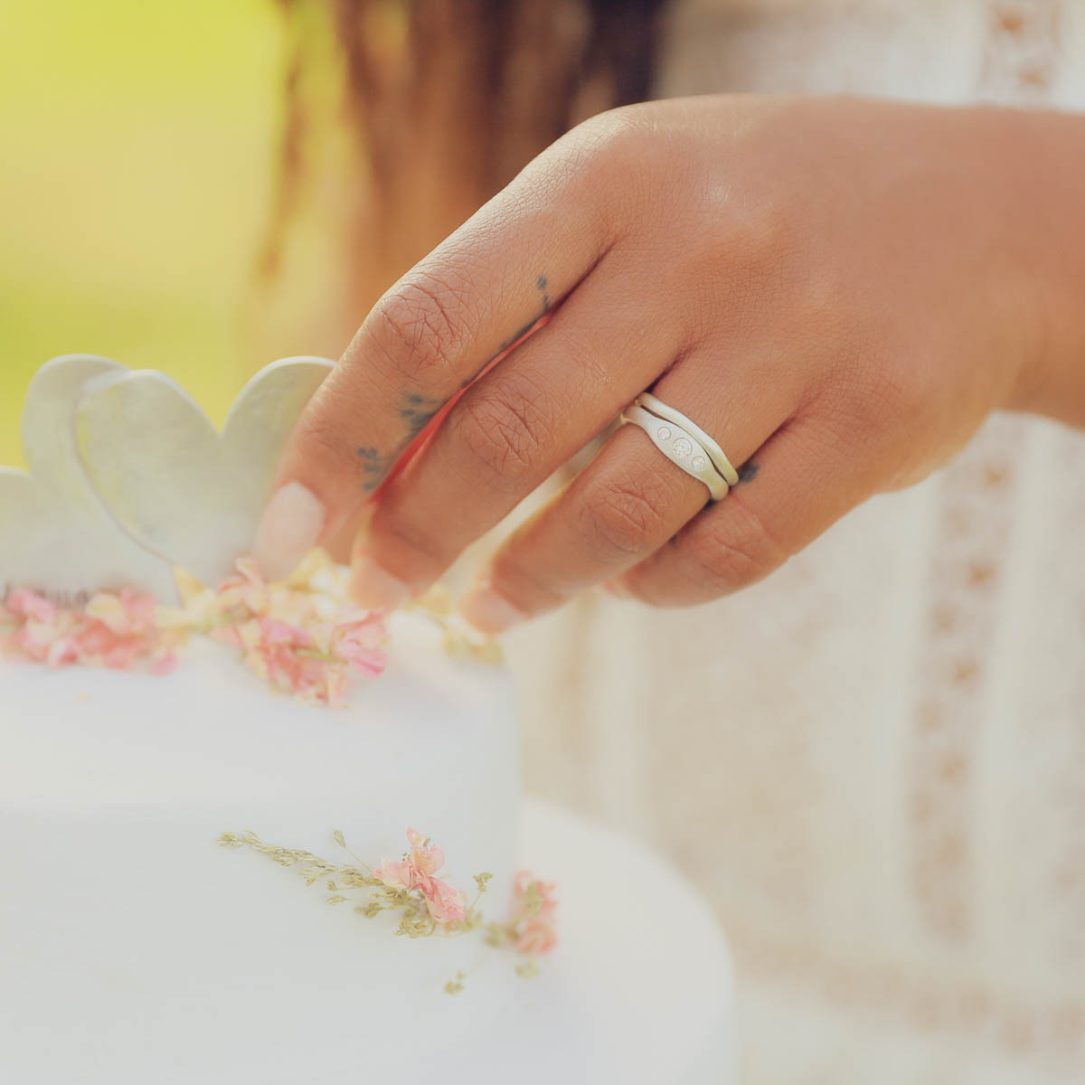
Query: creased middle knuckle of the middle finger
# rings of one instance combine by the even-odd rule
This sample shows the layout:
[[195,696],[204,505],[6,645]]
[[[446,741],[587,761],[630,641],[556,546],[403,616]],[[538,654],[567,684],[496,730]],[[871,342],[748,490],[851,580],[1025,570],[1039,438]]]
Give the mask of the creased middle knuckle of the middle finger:
[[452,435],[489,481],[515,485],[551,446],[554,419],[546,393],[519,378],[497,381],[452,412]]

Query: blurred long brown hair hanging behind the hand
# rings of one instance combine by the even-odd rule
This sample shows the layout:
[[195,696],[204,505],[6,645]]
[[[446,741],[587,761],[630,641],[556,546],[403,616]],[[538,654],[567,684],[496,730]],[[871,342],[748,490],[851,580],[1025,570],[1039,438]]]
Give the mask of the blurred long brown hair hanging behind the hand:
[[336,213],[349,322],[570,127],[649,97],[665,0],[278,2],[290,47],[259,270],[279,276],[312,197],[312,87],[330,77],[355,164]]

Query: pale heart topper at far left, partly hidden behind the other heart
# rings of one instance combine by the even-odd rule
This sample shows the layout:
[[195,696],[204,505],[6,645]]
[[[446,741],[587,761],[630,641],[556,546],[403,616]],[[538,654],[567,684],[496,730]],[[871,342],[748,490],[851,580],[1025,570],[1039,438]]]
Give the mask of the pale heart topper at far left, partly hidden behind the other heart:
[[117,531],[76,451],[85,387],[118,371],[127,372],[108,358],[65,355],[30,381],[22,422],[29,471],[0,468],[0,599],[16,587],[74,597],[125,585],[173,598],[169,567]]

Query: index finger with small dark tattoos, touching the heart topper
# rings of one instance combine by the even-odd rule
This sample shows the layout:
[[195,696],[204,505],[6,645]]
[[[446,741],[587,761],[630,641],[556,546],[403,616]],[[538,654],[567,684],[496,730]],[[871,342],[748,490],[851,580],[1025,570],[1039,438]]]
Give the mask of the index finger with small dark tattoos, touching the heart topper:
[[609,221],[536,159],[376,303],[302,416],[256,538],[285,576],[344,529],[442,407],[588,275]]

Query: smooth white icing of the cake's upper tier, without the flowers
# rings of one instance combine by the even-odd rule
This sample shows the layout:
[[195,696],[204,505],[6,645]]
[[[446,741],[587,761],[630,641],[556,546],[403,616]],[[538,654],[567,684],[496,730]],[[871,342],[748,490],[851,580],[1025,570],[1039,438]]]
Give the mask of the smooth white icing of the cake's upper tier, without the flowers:
[[21,1083],[297,1082],[277,1076],[288,1033],[311,1036],[317,1080],[344,1034],[359,1067],[391,1067],[404,1044],[437,1052],[493,1020],[522,982],[503,956],[442,990],[485,956],[480,937],[396,937],[392,917],[216,846],[251,829],[339,858],[342,829],[375,863],[413,826],[469,895],[494,872],[485,910],[503,918],[511,682],[447,658],[423,620],[397,615],[393,642],[341,709],[272,695],[209,642],[164,678],[0,664],[0,1051]]

